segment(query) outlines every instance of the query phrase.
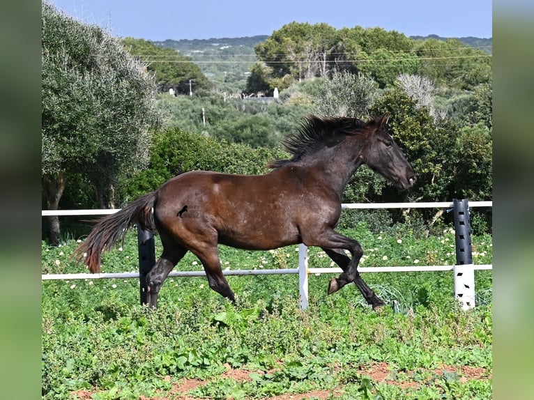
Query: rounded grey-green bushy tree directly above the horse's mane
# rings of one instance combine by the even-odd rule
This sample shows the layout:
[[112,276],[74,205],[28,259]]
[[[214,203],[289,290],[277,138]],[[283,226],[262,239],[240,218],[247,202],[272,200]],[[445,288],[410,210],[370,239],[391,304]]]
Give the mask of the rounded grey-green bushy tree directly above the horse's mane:
[[332,79],[323,80],[314,103],[318,114],[364,118],[377,96],[378,84],[372,78],[335,72]]

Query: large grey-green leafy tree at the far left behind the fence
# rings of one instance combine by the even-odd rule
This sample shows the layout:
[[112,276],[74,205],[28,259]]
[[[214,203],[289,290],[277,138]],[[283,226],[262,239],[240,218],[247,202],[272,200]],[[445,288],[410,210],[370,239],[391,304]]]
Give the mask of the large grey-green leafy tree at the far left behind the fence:
[[[114,206],[119,176],[148,160],[149,131],[160,123],[153,77],[121,42],[42,4],[42,171],[49,209],[69,176],[84,174],[98,205]],[[59,220],[50,217],[52,243]]]

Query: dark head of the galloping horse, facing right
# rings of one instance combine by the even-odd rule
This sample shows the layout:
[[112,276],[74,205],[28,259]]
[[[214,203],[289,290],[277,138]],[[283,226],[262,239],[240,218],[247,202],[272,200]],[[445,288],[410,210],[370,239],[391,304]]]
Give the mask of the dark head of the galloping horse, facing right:
[[386,128],[388,119],[389,114],[386,113],[367,123],[370,132],[360,157],[369,168],[390,180],[399,189],[408,189],[415,183],[415,172],[389,134]]

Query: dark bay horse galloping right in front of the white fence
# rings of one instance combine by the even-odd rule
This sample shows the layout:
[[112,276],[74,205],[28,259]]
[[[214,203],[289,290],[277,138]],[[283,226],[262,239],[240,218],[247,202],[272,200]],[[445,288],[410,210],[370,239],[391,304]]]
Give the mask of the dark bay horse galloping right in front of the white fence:
[[[284,139],[289,160],[270,164],[268,174],[232,175],[190,171],[155,192],[99,220],[76,250],[91,272],[100,272],[100,254],[134,223],[158,231],[163,252],[146,276],[147,302],[158,305],[158,292],[188,250],[206,271],[211,289],[235,302],[222,274],[218,244],[268,250],[304,243],[321,247],[342,274],[330,280],[328,294],[354,282],[374,309],[383,301],[358,272],[363,255],[356,240],[334,230],[342,193],[362,164],[400,190],[415,183],[415,173],[388,133],[388,114],[363,122],[356,118],[308,116],[300,130]],[[348,250],[351,257],[344,250]]]

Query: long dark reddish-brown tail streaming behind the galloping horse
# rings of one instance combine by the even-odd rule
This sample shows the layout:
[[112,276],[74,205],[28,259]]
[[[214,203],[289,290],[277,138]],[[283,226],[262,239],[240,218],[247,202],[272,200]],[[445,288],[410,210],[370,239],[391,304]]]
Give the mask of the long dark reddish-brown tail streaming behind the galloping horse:
[[74,255],[83,259],[89,271],[100,272],[102,251],[109,250],[119,239],[124,240],[128,227],[135,222],[142,229],[155,231],[153,206],[156,194],[151,192],[128,203],[117,213],[100,218],[86,240],[75,250]]

